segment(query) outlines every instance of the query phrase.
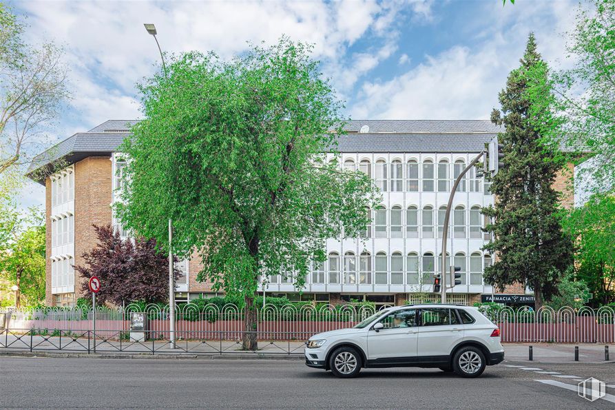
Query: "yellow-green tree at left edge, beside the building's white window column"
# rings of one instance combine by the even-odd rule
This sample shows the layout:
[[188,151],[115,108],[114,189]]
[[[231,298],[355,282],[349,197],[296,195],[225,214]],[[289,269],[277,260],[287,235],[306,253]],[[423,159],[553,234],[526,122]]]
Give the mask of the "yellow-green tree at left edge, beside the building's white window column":
[[8,293],[17,285],[16,307],[45,300],[45,225],[40,209],[21,216],[5,209],[0,217],[0,278]]

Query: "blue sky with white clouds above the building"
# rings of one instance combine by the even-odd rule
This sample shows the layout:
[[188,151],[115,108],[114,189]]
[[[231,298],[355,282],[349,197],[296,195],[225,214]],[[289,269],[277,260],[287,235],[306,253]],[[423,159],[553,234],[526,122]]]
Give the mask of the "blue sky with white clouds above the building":
[[[155,23],[167,52],[214,50],[229,58],[247,41],[282,34],[315,45],[353,119],[488,119],[497,93],[534,31],[561,66],[578,3],[476,1],[9,1],[27,15],[30,43],[65,47],[74,98],[51,141],[107,119],[139,116],[135,83],[156,70]],[[43,205],[28,184],[21,206]]]

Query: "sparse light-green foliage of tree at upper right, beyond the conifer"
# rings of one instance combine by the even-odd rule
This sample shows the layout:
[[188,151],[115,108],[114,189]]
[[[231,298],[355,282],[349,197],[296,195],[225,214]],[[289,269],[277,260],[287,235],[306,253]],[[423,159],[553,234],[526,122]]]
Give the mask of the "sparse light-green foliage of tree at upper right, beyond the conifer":
[[590,152],[577,178],[598,191],[615,189],[615,0],[579,6],[567,44],[570,70],[540,61],[528,70],[532,123],[543,143]]

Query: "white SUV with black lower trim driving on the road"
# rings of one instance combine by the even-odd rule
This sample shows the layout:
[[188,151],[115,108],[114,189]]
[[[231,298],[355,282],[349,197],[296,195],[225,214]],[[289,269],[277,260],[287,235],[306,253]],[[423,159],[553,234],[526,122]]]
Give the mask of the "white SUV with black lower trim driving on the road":
[[504,360],[500,331],[478,309],[406,305],[378,311],[348,329],[306,343],[305,364],[342,378],[362,367],[438,367],[474,378]]

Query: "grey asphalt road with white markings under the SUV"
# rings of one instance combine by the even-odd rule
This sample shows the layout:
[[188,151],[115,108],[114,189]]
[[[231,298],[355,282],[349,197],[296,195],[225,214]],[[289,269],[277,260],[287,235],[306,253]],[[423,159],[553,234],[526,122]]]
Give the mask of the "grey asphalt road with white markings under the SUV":
[[[606,391],[613,401],[589,402],[571,390],[574,378],[591,376],[612,386]],[[343,380],[298,360],[5,356],[0,407],[614,409],[615,364],[507,361],[477,379],[437,369],[364,369]]]

